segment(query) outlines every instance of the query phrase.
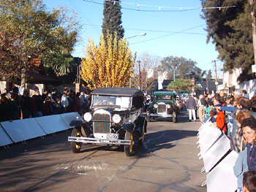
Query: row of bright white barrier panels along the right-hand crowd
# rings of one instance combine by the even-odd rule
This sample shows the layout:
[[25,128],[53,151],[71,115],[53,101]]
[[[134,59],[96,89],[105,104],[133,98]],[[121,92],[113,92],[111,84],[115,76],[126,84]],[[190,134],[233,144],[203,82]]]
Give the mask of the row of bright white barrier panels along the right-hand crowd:
[[223,191],[234,192],[237,189],[237,178],[233,172],[238,153],[230,150],[230,139],[222,134],[219,128],[205,123],[200,126],[197,134],[198,154],[203,159],[204,167],[201,172],[206,172],[208,192]]

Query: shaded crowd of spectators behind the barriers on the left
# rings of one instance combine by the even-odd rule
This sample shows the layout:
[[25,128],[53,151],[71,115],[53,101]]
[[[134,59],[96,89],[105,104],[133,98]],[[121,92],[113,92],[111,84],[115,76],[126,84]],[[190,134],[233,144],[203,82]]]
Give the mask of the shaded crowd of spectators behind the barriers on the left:
[[5,91],[0,99],[0,122],[6,120],[19,120],[37,118],[45,115],[56,115],[64,112],[78,112],[82,115],[89,110],[89,95],[84,92],[75,93],[64,88],[63,93],[58,89],[45,89],[42,95],[38,90],[33,96],[24,90],[20,95],[18,87],[12,91]]

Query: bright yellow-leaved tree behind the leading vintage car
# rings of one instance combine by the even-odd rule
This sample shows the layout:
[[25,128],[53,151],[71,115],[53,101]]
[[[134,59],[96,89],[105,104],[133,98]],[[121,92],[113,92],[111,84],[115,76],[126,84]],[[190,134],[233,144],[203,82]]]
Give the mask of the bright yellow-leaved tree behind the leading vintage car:
[[133,73],[136,54],[132,52],[126,39],[107,34],[107,43],[102,34],[99,45],[89,39],[86,58],[81,62],[81,77],[90,90],[103,87],[124,87]]

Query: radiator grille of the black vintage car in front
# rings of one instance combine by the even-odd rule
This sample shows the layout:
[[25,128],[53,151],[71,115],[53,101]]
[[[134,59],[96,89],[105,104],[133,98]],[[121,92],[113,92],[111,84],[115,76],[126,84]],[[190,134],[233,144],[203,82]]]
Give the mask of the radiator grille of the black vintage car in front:
[[94,114],[94,133],[108,134],[110,133],[110,115],[109,114]]

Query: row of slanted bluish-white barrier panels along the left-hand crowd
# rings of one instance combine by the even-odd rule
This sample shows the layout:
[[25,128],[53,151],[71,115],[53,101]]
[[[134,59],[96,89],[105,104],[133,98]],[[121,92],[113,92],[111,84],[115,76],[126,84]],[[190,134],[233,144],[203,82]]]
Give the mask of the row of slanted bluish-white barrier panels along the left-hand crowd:
[[78,112],[69,112],[61,115],[48,115],[39,118],[4,121],[0,123],[0,146],[9,147],[12,143],[26,142],[28,139],[44,137],[69,128],[71,120],[78,117]]

